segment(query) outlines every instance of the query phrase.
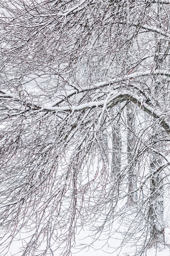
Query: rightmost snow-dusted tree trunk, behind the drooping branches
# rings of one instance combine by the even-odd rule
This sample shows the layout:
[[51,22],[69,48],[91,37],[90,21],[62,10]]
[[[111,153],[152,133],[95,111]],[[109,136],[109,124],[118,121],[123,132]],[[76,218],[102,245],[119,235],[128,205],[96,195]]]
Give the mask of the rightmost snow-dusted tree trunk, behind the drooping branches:
[[[161,30],[162,23],[162,3],[157,1],[157,20],[159,25],[157,28]],[[154,58],[154,69],[163,68],[162,58],[160,53],[162,52],[161,39],[155,34],[155,58]],[[159,78],[154,78],[153,89],[155,97],[158,98],[159,90],[161,90],[161,85],[159,83]],[[154,88],[155,86],[155,88]],[[157,106],[159,106],[159,101],[157,101]],[[153,126],[152,132],[154,134],[153,138],[159,141],[156,127]],[[159,142],[157,142],[158,144]],[[155,147],[157,144],[154,144]],[[165,246],[165,234],[164,234],[164,221],[163,221],[163,176],[161,173],[161,163],[162,157],[157,153],[152,152],[150,159],[150,171],[152,174],[152,179],[150,180],[150,244],[149,247],[155,247],[158,249],[163,249]]]

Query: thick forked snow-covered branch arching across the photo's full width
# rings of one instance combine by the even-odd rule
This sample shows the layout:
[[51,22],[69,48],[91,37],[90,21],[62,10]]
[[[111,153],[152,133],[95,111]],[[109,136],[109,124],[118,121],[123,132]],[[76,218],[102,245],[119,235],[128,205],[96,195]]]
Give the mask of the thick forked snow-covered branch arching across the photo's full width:
[[[24,103],[24,106],[28,106],[28,110],[31,111],[46,111],[46,112],[79,112],[85,109],[90,109],[90,108],[113,108],[114,106],[117,106],[119,103],[123,102],[123,101],[132,101],[134,104],[136,104],[139,108],[143,109],[144,112],[146,112],[148,115],[154,117],[155,119],[157,119],[159,121],[159,124],[163,127],[164,130],[166,130],[166,132],[170,133],[170,124],[168,123],[168,121],[166,121],[168,119],[168,117],[166,117],[165,120],[165,115],[163,116],[163,113],[161,113],[161,110],[158,107],[154,107],[152,106],[152,104],[148,104],[147,100],[145,97],[140,97],[137,96],[138,92],[140,92],[140,88],[136,88],[137,90],[136,94],[131,94],[130,90],[121,90],[121,92],[118,91],[118,89],[120,90],[120,85],[119,83],[126,80],[132,80],[132,79],[136,79],[138,77],[141,76],[149,76],[149,75],[162,75],[162,76],[169,76],[170,77],[170,70],[155,70],[154,72],[152,70],[147,70],[145,72],[135,72],[132,74],[129,74],[127,76],[124,76],[123,79],[117,79],[117,77],[111,79],[110,81],[104,81],[101,83],[96,83],[95,85],[91,86],[91,87],[85,87],[82,90],[78,91],[76,89],[71,90],[67,95],[63,95],[64,99],[59,99],[51,104],[48,105],[42,105],[42,106],[36,106],[36,105],[31,105],[31,103],[26,103],[26,101],[22,102],[22,104]],[[97,88],[102,88],[104,86],[113,84],[113,83],[118,83],[118,85],[116,85],[113,90],[111,90],[110,92],[108,92],[108,95],[106,97],[106,99],[102,99],[102,100],[95,100],[95,101],[89,101],[86,103],[82,103],[80,105],[66,105],[66,106],[60,106],[60,104],[67,98],[73,96],[74,94],[79,94],[79,93],[83,93],[83,92],[87,92],[88,90],[90,91],[95,91]],[[96,99],[98,97],[99,99],[100,95],[96,94]],[[11,98],[13,99],[13,101],[21,101],[19,98],[15,97],[15,95],[5,91],[5,90],[0,90],[0,98]],[[70,103],[69,103],[70,104]],[[2,107],[2,105],[1,105]],[[7,109],[7,106],[4,107],[5,109]],[[10,109],[11,110],[11,109]],[[16,110],[16,109],[15,109]],[[19,111],[19,109],[18,109]],[[26,111],[26,110],[25,110]]]

